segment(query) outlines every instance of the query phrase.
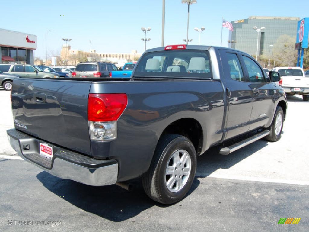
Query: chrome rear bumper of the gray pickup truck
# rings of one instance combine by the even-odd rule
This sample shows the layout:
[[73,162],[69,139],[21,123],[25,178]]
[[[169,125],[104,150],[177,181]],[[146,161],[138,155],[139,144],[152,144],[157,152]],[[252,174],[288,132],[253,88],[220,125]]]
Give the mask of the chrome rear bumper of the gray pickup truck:
[[15,129],[7,130],[12,148],[24,160],[50,174],[92,186],[115,184],[118,176],[116,160],[95,160],[55,145],[51,160],[40,156],[39,144],[43,142]]

